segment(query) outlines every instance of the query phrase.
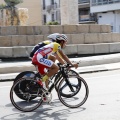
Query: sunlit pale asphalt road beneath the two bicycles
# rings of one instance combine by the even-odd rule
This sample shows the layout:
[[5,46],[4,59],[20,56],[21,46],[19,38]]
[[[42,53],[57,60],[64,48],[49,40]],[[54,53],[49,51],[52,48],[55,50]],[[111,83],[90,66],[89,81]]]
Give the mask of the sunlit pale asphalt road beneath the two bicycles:
[[120,120],[120,70],[81,74],[89,86],[89,97],[77,109],[65,107],[53,92],[51,104],[24,113],[9,99],[12,82],[0,82],[0,120]]

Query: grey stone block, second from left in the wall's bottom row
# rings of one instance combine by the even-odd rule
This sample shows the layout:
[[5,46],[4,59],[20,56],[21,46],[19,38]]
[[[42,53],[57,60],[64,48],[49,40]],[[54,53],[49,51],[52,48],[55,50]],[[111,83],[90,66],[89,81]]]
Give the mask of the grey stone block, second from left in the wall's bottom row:
[[28,57],[26,47],[25,46],[14,46],[13,57]]

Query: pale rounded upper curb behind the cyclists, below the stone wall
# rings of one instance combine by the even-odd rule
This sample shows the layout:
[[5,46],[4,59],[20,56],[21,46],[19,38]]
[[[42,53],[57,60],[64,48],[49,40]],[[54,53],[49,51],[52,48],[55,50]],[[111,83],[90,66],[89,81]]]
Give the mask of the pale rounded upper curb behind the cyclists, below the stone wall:
[[[92,57],[70,58],[71,61],[79,62],[79,67],[102,65],[120,62],[120,53],[110,55],[100,55]],[[31,61],[26,62],[3,62],[0,63],[0,74],[16,73],[22,71],[35,71],[36,68]]]

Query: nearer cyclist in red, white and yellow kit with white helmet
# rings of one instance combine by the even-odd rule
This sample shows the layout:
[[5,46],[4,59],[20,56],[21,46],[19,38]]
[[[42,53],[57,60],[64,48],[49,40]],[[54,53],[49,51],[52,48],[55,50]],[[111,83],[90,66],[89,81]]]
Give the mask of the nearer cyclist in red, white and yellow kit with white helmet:
[[[56,36],[56,42],[51,42],[48,45],[45,45],[41,48],[39,48],[33,58],[32,58],[32,63],[35,64],[38,67],[38,71],[40,74],[44,75],[42,80],[39,82],[43,85],[43,87],[46,89],[48,87],[48,79],[49,77],[53,76],[55,73],[58,72],[59,67],[49,59],[51,56],[57,55],[59,53],[62,57],[62,59],[59,62],[67,63],[73,65],[75,68],[78,67],[78,64],[73,64],[69,58],[63,53],[61,48],[64,48],[67,43],[67,36],[65,34],[59,34]],[[58,59],[59,60],[59,59]],[[45,68],[49,69],[49,71],[46,73]],[[46,86],[44,84],[46,82]]]

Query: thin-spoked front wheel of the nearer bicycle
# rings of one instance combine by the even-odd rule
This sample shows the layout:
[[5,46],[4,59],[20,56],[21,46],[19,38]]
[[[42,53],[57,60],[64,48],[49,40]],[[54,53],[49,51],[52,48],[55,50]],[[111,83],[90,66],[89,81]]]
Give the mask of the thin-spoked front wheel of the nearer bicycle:
[[[67,79],[69,80],[69,84],[71,84],[73,91],[71,91],[69,86],[64,87],[66,84],[66,78],[63,78],[60,81],[59,86],[58,86],[59,100],[67,107],[70,107],[70,108],[80,107],[86,102],[88,98],[88,94],[89,94],[88,85],[86,81],[80,76],[76,76],[76,77],[69,76]],[[79,86],[79,83],[80,83],[80,86]],[[76,90],[77,92],[75,93]],[[64,93],[66,95],[71,94],[72,96],[66,97],[62,95],[61,93]]]

